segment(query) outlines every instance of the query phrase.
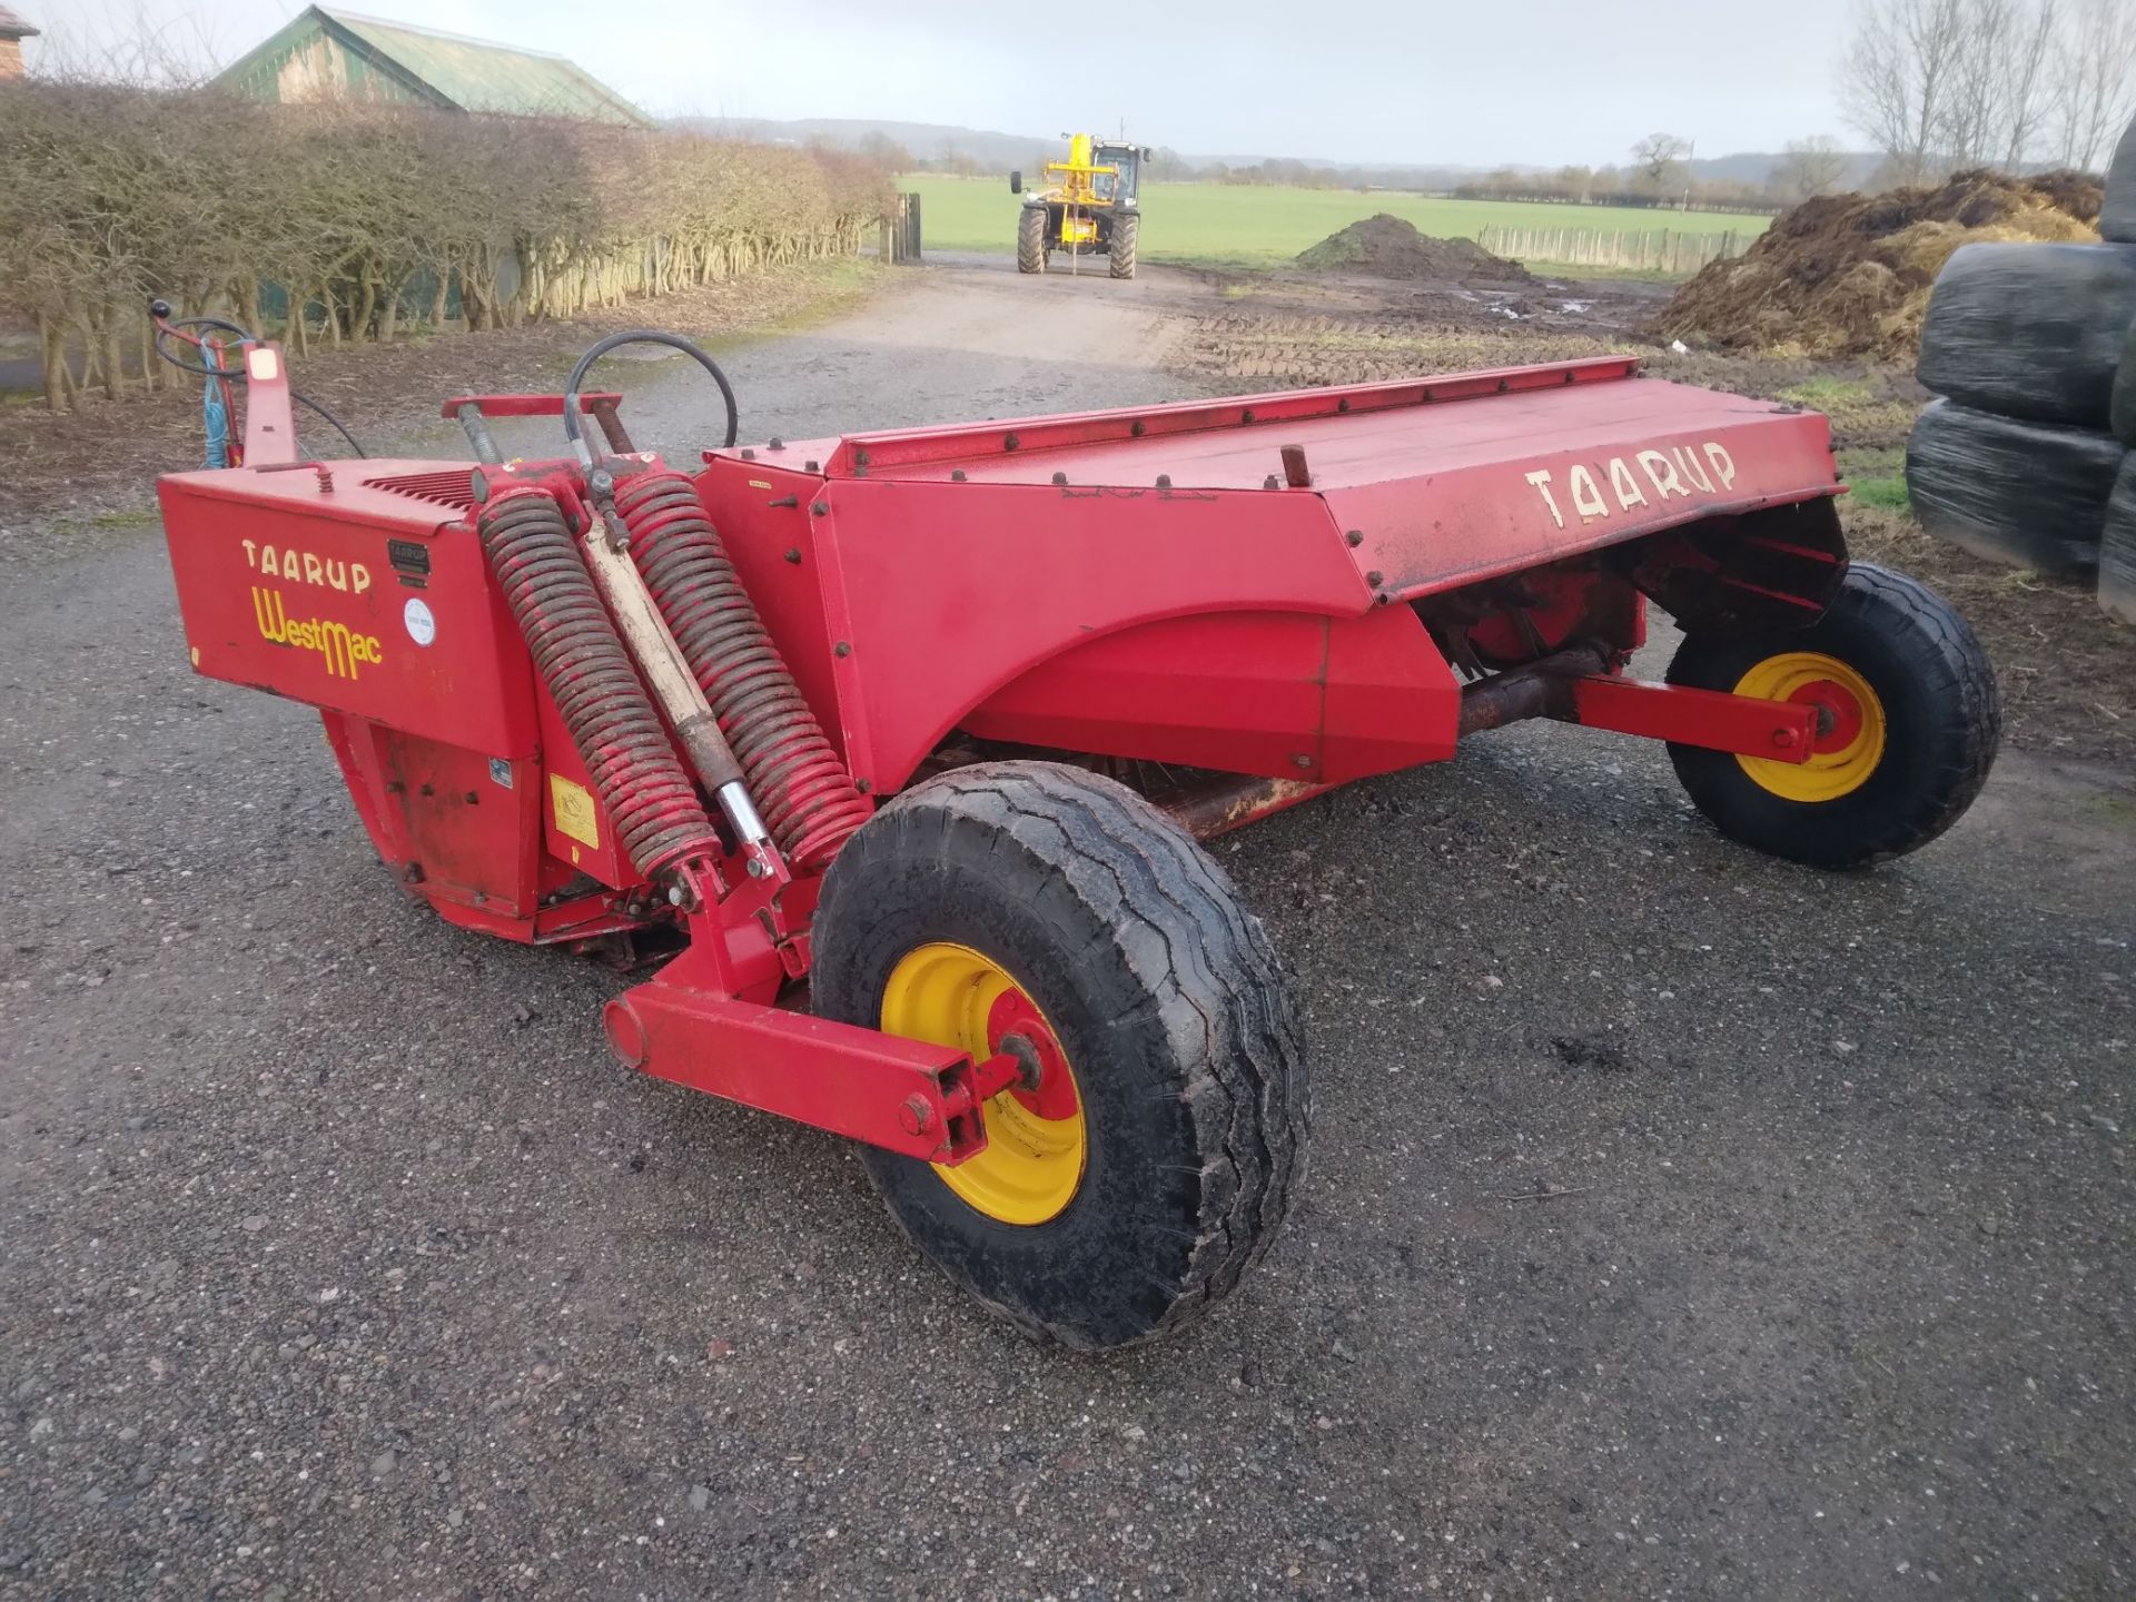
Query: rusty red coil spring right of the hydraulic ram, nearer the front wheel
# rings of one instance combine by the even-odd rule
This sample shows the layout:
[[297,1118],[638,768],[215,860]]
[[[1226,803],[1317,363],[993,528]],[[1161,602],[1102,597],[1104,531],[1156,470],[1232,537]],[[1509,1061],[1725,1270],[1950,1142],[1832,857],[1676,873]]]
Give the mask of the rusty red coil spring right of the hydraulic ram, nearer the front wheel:
[[871,807],[765,632],[696,487],[666,468],[632,474],[615,487],[615,513],[771,837],[799,869],[829,863]]

